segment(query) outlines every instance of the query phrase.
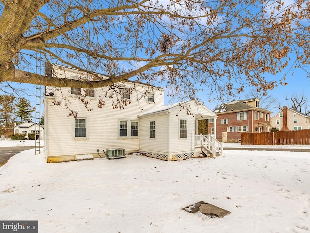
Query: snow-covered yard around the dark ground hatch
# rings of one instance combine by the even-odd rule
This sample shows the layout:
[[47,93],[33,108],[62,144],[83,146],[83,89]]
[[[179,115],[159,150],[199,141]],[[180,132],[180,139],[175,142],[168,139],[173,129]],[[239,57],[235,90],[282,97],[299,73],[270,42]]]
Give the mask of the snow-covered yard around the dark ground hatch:
[[[132,154],[47,164],[34,152],[0,167],[0,220],[38,220],[39,233],[310,232],[310,153],[225,150],[211,159]],[[198,201],[231,214],[181,210]]]

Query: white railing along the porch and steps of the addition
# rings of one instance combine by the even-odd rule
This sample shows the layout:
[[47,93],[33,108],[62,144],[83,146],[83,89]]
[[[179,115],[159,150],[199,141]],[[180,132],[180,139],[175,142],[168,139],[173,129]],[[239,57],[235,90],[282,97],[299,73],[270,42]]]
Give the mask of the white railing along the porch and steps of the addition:
[[208,150],[213,157],[218,153],[219,155],[223,155],[223,144],[217,139],[215,139],[212,135],[195,135],[195,147],[203,147]]

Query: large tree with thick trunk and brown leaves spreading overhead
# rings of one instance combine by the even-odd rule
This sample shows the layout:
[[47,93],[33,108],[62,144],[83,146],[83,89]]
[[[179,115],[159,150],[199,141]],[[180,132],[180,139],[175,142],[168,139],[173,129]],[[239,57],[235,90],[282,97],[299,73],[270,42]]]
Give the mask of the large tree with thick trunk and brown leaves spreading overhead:
[[[267,91],[277,80],[265,73],[310,64],[309,19],[304,0],[0,0],[0,83],[95,88],[131,79],[169,86],[179,99],[245,85]],[[105,78],[47,77],[38,59]]]

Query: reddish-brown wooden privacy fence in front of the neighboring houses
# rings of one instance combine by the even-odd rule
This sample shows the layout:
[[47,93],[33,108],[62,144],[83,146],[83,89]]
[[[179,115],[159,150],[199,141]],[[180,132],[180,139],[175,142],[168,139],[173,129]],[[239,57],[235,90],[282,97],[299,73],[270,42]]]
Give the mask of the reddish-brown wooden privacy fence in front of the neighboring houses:
[[263,133],[241,133],[241,144],[243,145],[310,145],[309,130],[289,130]]

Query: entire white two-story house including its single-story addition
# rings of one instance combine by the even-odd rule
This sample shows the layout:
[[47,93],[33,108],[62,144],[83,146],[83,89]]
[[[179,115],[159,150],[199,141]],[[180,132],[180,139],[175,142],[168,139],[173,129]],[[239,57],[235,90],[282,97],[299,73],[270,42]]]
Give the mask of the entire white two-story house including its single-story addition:
[[[53,72],[57,77],[76,79],[81,76],[78,70],[59,65],[54,65]],[[46,75],[51,73],[47,72]],[[109,87],[46,87],[44,150],[47,162],[76,160],[78,155],[105,156],[103,151],[111,148],[123,148],[126,153],[143,149],[146,155],[153,153],[150,156],[154,156],[154,153],[164,154],[166,157],[154,157],[166,160],[197,155],[193,153],[188,156],[195,151],[197,120],[214,118],[211,110],[193,101],[164,106],[162,88],[135,82],[118,85],[122,87],[122,93],[114,94],[113,98],[106,93]],[[81,95],[88,101],[88,109],[79,100]],[[121,96],[130,100],[130,104],[124,109],[115,108],[113,102]],[[98,108],[98,103],[103,101],[104,106]],[[187,108],[190,114],[187,114]],[[78,113],[76,118],[74,114],[69,116],[72,113],[70,110]],[[150,121],[155,121],[155,125],[150,125]],[[202,151],[202,148],[199,150]]]

